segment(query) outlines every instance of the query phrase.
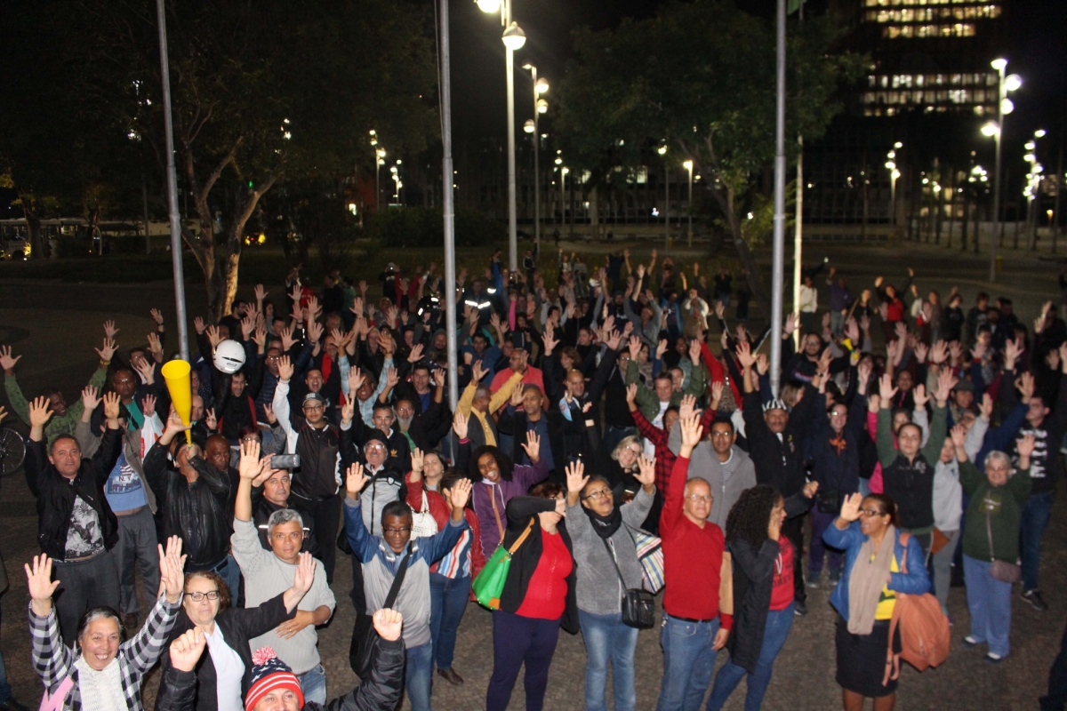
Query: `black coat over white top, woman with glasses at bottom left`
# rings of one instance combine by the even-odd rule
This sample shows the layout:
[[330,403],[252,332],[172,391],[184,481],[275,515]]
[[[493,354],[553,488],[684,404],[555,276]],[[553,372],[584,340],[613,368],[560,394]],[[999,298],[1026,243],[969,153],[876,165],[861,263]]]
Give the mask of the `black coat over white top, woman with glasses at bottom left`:
[[[244,677],[241,679],[241,695],[249,691],[252,680],[252,648],[249,641],[260,634],[267,634],[272,629],[287,619],[292,619],[297,614],[297,609],[286,612],[283,597],[285,593],[267,600],[258,608],[228,608],[214,617],[214,624],[222,630],[222,636],[230,649],[237,652],[244,663]],[[178,618],[174,620],[174,628],[166,639],[166,646],[193,628],[192,620],[186,614],[185,608],[178,613]],[[162,683],[159,694],[156,697],[156,709],[161,707],[162,699],[166,694],[166,684],[171,672],[171,656],[160,655],[160,664],[163,668]],[[193,682],[194,701],[188,708],[196,711],[216,711],[219,708],[219,697],[216,690],[217,678],[214,676],[214,664],[211,662],[211,650],[204,649],[200,661],[196,662],[195,680]]]

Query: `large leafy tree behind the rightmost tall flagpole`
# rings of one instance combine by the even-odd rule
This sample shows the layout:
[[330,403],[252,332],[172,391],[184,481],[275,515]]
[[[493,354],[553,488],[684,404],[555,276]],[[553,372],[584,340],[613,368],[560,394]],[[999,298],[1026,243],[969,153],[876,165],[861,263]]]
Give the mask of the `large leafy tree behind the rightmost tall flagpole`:
[[[862,68],[862,58],[830,51],[834,37],[827,18],[790,29],[786,135],[821,138],[841,109],[835,91]],[[649,19],[577,30],[574,45],[577,59],[560,82],[557,104],[568,164],[599,181],[616,166],[660,160],[652,158],[660,146],[667,148],[662,160],[679,168],[692,160],[703,176],[698,185],[714,197],[748,269],[752,293],[769,308],[740,215],[753,176],[775,156],[773,23],[729,0],[674,0]]]

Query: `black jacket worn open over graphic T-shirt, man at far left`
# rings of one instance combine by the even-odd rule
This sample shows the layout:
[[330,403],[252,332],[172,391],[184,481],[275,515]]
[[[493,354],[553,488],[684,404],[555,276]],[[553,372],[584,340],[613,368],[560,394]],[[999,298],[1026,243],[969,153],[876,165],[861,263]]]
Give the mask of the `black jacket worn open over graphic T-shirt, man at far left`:
[[49,463],[46,442],[26,441],[26,483],[37,499],[37,544],[49,558],[59,561],[66,558],[67,530],[77,497],[96,512],[105,548],[111,550],[118,543],[118,519],[103,497],[103,485],[118,462],[122,446],[122,433],[107,430],[96,453],[91,459],[81,460],[70,482]]

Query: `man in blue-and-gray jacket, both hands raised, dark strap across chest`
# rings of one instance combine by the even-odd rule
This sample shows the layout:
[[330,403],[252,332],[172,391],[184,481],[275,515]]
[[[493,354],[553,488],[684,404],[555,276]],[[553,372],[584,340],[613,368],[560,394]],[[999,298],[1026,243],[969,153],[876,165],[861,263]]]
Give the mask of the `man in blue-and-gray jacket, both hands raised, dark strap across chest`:
[[[377,442],[376,442],[377,443]],[[448,553],[464,531],[469,530],[464,508],[471,498],[471,481],[457,480],[450,500],[448,524],[436,534],[411,539],[411,507],[393,501],[381,510],[381,536],[368,532],[366,512],[361,511],[363,495],[371,483],[360,464],[349,467],[345,483],[345,530],[348,543],[363,568],[365,604],[359,612],[373,614],[385,607],[393,582],[404,566],[396,601],[391,605],[405,620],[404,647],[408,661],[404,674],[412,711],[430,710],[430,682],[433,678],[433,642],[430,635],[430,565]]]

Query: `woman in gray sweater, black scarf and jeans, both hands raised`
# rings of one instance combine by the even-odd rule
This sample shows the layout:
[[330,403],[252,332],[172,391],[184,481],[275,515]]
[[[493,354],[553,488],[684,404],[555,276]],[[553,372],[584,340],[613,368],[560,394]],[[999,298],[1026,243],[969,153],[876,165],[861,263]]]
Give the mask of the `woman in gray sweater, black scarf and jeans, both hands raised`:
[[585,475],[585,465],[567,467],[567,513],[578,569],[578,621],[586,642],[586,710],[606,711],[607,665],[611,662],[617,711],[633,711],[634,650],[637,628],[622,621],[622,597],[641,587],[642,569],[630,532],[649,515],[655,499],[655,462],[643,454],[636,479],[641,488],[628,503],[617,502],[601,474]]

